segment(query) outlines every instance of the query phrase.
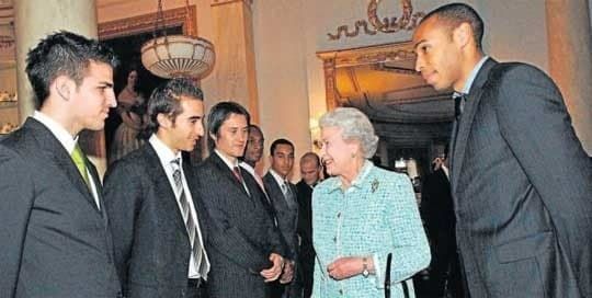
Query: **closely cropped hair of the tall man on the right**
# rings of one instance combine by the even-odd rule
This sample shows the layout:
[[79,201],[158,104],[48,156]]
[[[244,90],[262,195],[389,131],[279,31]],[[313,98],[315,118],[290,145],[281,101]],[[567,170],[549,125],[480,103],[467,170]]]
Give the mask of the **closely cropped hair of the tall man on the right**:
[[421,20],[420,24],[424,21],[437,18],[439,21],[444,22],[448,25],[451,32],[453,28],[458,27],[462,23],[468,23],[473,28],[473,38],[477,48],[482,49],[482,39],[483,39],[483,20],[475,9],[465,3],[449,3],[442,5],[430,13],[428,13]]

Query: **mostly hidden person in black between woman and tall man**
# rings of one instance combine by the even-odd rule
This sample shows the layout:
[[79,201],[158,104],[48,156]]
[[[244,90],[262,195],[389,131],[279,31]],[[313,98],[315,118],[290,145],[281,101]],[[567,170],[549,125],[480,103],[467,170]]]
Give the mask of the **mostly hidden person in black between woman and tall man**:
[[430,291],[436,297],[463,297],[446,152],[432,165],[434,172],[425,176],[421,192],[421,215],[432,252]]

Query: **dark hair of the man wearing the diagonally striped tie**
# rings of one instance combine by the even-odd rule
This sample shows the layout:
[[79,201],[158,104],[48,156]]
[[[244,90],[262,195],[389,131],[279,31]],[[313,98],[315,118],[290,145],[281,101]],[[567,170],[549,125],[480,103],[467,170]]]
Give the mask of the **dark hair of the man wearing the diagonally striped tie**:
[[164,114],[171,117],[174,123],[177,116],[183,113],[181,106],[181,96],[203,101],[204,93],[189,79],[169,80],[152,91],[148,100],[148,124],[145,136],[149,136],[158,130],[158,114]]

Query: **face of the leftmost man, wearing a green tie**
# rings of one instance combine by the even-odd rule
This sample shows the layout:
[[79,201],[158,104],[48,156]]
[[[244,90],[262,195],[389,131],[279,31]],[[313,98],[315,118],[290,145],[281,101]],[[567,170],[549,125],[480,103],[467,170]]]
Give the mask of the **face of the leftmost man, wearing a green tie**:
[[113,68],[91,60],[82,82],[71,89],[68,95],[71,133],[103,129],[109,108],[117,105],[113,91]]

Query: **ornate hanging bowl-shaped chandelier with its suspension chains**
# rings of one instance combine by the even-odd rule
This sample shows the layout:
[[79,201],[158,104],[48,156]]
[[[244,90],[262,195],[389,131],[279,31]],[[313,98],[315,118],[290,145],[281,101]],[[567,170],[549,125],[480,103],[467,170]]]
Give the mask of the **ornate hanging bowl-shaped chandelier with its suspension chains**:
[[[185,0],[185,13],[189,16],[189,0]],[[209,41],[184,34],[167,35],[162,0],[158,0],[152,37],[141,46],[141,64],[152,74],[166,79],[202,79],[212,70],[216,55]]]

